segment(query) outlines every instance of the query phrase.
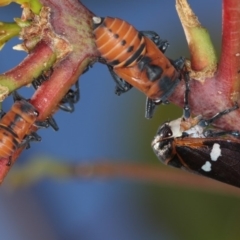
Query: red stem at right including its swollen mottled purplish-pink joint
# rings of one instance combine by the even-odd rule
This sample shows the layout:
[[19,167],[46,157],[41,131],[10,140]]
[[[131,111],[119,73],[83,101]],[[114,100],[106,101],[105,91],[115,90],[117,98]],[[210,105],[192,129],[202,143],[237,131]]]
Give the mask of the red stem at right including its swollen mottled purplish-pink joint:
[[[210,118],[239,101],[240,84],[240,1],[223,0],[222,53],[218,70],[204,82],[190,81],[190,109],[193,114]],[[183,107],[184,82],[179,84],[169,100]],[[240,131],[240,110],[223,116],[214,126]]]

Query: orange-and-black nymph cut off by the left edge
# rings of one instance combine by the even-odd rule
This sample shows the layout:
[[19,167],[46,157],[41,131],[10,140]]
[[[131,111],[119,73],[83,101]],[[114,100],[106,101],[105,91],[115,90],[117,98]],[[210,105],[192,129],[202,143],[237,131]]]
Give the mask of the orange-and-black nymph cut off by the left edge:
[[28,101],[22,99],[16,101],[9,112],[1,113],[0,120],[0,157],[8,158],[8,164],[14,152],[29,141],[40,141],[41,138],[30,128],[38,117],[38,112]]

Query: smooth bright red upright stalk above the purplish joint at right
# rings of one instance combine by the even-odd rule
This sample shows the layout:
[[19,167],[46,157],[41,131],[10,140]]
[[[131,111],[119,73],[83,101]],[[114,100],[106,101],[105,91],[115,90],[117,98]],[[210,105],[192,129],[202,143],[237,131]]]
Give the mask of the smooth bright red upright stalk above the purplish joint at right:
[[[218,81],[229,88],[234,99],[239,98],[240,87],[240,1],[223,0],[222,53]],[[232,97],[230,95],[230,97]]]

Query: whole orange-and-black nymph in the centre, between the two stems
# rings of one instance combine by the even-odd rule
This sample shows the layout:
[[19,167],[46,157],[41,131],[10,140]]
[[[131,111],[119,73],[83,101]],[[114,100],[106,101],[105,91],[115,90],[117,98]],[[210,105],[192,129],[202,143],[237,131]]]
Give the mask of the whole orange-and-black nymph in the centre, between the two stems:
[[181,79],[184,58],[168,59],[168,42],[152,31],[138,31],[119,18],[93,17],[94,35],[100,53],[115,80],[116,94],[134,86],[147,96],[145,116],[151,118],[156,105],[168,103]]

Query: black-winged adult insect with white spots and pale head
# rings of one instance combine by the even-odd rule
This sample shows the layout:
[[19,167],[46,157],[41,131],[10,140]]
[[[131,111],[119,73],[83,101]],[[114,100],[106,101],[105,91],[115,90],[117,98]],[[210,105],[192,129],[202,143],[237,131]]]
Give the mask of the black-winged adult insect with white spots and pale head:
[[164,123],[152,142],[154,153],[166,165],[240,187],[240,132],[208,128],[236,109],[238,105],[210,119],[183,117]]

